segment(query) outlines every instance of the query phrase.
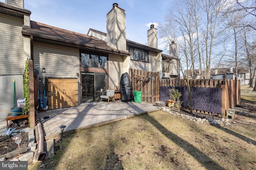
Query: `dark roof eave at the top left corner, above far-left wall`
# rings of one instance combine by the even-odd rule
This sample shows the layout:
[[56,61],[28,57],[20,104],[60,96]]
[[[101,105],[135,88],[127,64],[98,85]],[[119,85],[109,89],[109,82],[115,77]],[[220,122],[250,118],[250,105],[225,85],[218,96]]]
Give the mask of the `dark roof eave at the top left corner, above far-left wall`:
[[14,16],[18,18],[24,18],[23,15],[29,16],[31,14],[30,10],[26,9],[20,9],[13,6],[9,6],[4,4],[3,2],[0,2],[0,14],[6,14],[9,16]]

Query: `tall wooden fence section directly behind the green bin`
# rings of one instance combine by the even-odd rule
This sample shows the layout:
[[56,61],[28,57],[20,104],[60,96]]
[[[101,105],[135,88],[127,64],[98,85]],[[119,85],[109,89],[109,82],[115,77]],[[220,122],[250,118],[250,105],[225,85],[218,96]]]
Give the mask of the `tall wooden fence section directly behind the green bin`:
[[134,91],[142,92],[142,102],[154,103],[160,100],[159,72],[129,69]]

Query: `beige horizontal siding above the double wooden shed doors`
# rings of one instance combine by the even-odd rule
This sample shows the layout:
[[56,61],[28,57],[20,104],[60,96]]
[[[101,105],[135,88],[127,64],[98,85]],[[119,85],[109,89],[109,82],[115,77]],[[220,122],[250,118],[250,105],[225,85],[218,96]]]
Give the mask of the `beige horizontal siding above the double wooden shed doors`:
[[[79,50],[34,43],[34,64],[40,64],[40,76],[74,78],[79,72]],[[45,73],[43,66],[47,68]]]

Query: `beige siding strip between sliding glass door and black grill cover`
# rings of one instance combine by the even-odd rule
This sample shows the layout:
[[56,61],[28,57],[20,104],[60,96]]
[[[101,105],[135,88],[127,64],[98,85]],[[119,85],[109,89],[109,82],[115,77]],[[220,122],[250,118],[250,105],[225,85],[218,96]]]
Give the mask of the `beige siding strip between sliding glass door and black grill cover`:
[[109,68],[109,86],[114,88],[115,84],[118,84],[122,74],[124,73],[123,68],[123,57],[109,55],[108,56],[108,68]]

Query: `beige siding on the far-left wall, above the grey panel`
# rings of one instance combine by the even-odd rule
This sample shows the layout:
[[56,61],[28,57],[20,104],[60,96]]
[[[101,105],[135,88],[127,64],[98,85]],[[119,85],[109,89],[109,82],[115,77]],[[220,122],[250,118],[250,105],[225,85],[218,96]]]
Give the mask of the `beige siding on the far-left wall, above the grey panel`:
[[0,75],[23,74],[23,19],[0,14]]

